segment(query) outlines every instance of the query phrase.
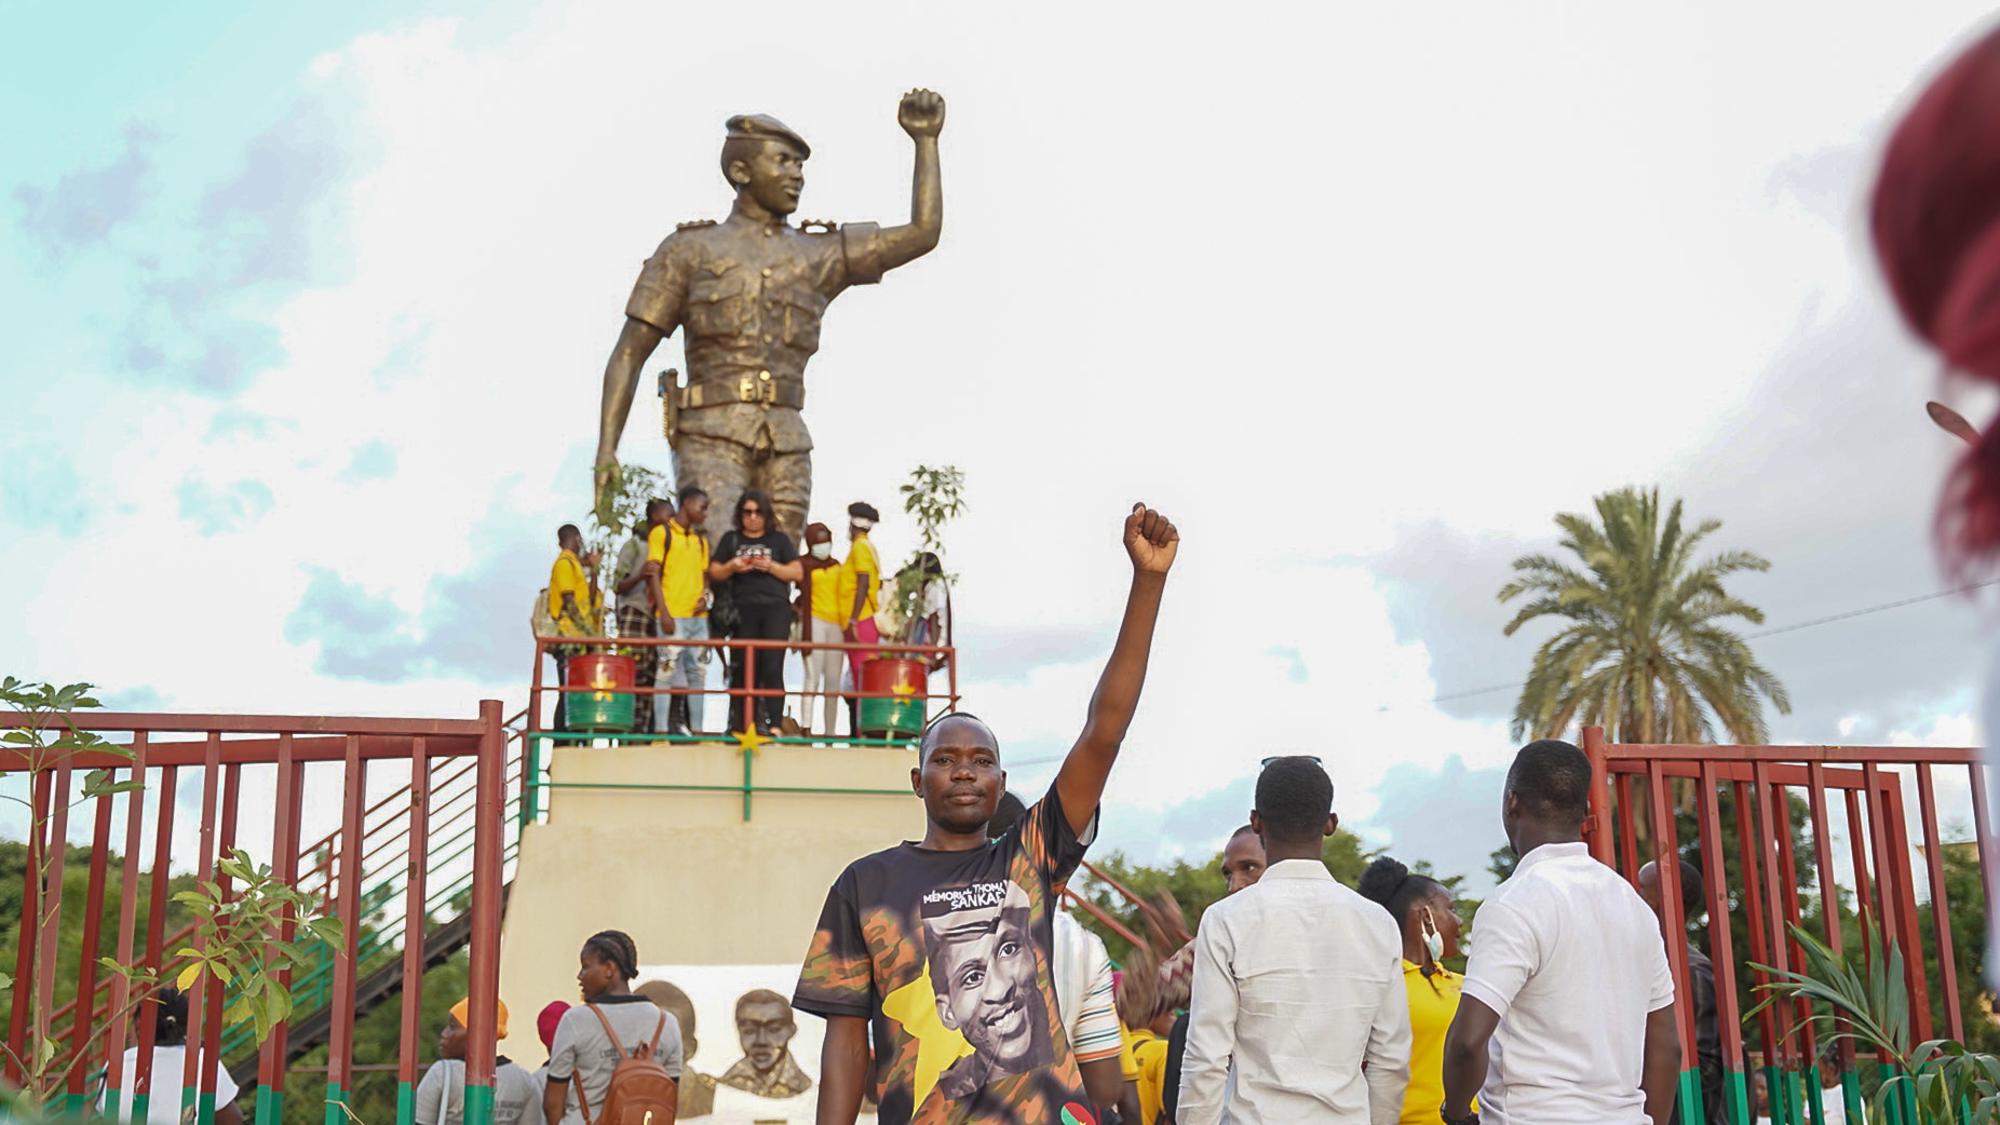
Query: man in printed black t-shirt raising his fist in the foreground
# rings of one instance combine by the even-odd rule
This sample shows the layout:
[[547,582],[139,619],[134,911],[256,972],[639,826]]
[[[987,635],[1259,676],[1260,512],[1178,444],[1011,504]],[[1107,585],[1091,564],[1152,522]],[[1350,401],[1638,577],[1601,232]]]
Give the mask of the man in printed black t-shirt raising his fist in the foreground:
[[792,995],[826,1019],[822,1125],[852,1123],[866,1089],[882,1125],[1100,1121],[1054,999],[1054,887],[1096,835],[1180,534],[1138,504],[1124,546],[1132,589],[1118,641],[1048,793],[990,839],[1006,793],[1000,741],[972,715],[944,715],[910,769],[924,843],[856,859],[828,891]]

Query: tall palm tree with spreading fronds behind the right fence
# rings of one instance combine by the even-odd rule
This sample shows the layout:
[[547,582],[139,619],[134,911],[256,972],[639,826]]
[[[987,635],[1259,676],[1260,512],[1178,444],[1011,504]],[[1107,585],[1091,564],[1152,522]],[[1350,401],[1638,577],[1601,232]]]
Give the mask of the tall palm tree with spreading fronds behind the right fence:
[[1680,500],[1660,518],[1660,490],[1620,488],[1596,498],[1598,522],[1556,516],[1562,546],[1582,571],[1548,554],[1514,560],[1500,601],[1528,595],[1506,635],[1556,617],[1564,629],[1542,643],[1514,705],[1516,739],[1554,739],[1572,723],[1604,727],[1616,743],[1710,743],[1716,727],[1742,745],[1768,739],[1764,705],[1792,711],[1778,677],[1750,645],[1724,629],[1732,617],[1762,625],[1764,613],[1722,589],[1738,571],[1768,571],[1748,550],[1700,565],[1700,546],[1722,520],[1680,524]]

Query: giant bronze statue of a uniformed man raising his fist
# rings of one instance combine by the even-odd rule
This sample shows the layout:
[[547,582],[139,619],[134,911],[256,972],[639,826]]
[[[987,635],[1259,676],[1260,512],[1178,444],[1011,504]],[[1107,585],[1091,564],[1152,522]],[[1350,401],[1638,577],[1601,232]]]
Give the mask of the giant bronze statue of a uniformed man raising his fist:
[[728,120],[722,174],[736,188],[736,206],[722,222],[680,224],[646,258],[604,364],[594,472],[600,502],[618,472],[618,436],[640,368],[662,338],[686,328],[688,384],[666,388],[676,484],[708,490],[710,538],[730,526],[744,488],[762,488],[778,526],[800,540],[812,502],[812,436],[798,412],[826,302],[928,254],[944,228],[944,98],[910,90],[896,122],[916,142],[916,172],[910,222],[884,230],[874,222],[792,226],[812,148],[776,118]]

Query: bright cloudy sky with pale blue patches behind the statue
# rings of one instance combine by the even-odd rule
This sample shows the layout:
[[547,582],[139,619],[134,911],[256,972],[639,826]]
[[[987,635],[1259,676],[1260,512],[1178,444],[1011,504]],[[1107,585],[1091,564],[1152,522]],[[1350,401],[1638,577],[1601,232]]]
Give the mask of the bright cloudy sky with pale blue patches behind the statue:
[[[1296,751],[1374,845],[1476,871],[1514,697],[1466,693],[1526,673],[1542,633],[1500,637],[1494,591],[1554,512],[1684,496],[1772,560],[1734,587],[1770,627],[1948,585],[1922,402],[1988,404],[1904,338],[1860,208],[1982,14],[14,10],[0,671],[130,709],[516,709],[636,266],[726,214],[722,120],[812,142],[800,216],[900,222],[896,98],[932,86],[944,242],[828,312],[814,516],[966,470],[966,703],[1040,787],[1120,518],[1162,506],[1106,847],[1208,853]],[[624,454],[668,464],[650,396]],[[1984,625],[1948,599],[1758,641],[1774,737],[1976,739]]]

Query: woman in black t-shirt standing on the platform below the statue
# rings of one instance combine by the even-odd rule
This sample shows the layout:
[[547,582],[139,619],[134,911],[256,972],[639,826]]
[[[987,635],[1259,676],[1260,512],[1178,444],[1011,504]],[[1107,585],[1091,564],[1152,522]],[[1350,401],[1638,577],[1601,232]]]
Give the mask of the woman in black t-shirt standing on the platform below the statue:
[[[728,583],[728,597],[736,603],[736,637],[744,641],[786,641],[792,637],[792,583],[804,577],[798,565],[798,548],[792,536],[776,528],[770,498],[756,488],[746,488],[736,500],[736,528],[722,534],[716,552],[708,562],[710,583]],[[772,695],[756,697],[756,729],[766,735],[778,733],[784,717],[784,647],[756,649],[754,661],[746,661],[748,651],[734,651],[730,659],[730,687],[744,687],[744,669],[756,671],[754,689]],[[744,697],[730,697],[730,731],[748,731],[744,719]]]

